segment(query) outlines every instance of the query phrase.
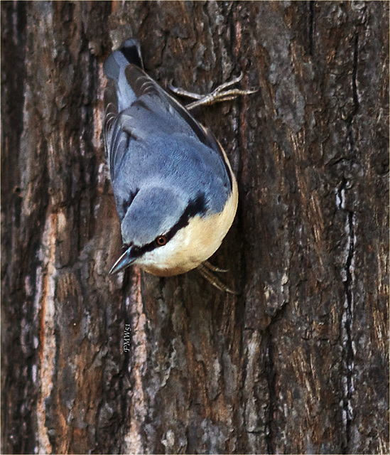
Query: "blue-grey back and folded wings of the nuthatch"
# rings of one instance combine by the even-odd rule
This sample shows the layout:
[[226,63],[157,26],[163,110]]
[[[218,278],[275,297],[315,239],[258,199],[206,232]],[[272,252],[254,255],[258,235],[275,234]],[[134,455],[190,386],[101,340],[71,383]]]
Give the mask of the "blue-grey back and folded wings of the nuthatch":
[[188,191],[189,198],[204,186],[215,195],[215,211],[222,210],[232,190],[232,176],[220,144],[143,70],[127,65],[125,75],[133,101],[117,112],[115,97],[121,93],[107,89],[104,122],[119,218],[143,182],[153,178],[172,179],[169,183]]

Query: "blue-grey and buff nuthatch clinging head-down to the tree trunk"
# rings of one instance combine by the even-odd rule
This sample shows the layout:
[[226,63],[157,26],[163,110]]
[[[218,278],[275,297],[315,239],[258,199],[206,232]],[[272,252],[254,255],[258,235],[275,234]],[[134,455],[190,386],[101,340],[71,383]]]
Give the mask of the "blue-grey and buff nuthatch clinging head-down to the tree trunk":
[[[237,181],[214,135],[142,68],[134,39],[104,63],[104,143],[124,242],[109,273],[138,264],[168,277],[199,267],[220,247],[236,214]],[[193,105],[249,92],[217,89]]]

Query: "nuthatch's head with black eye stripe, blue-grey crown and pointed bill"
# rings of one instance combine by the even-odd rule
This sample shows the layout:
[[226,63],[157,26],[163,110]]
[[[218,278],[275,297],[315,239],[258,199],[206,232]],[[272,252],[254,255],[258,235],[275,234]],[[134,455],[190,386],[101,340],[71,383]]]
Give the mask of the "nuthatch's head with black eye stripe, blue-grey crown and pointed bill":
[[159,276],[197,267],[208,257],[210,235],[204,232],[205,219],[207,201],[202,193],[190,198],[176,188],[141,189],[121,222],[125,250],[110,274],[131,264]]

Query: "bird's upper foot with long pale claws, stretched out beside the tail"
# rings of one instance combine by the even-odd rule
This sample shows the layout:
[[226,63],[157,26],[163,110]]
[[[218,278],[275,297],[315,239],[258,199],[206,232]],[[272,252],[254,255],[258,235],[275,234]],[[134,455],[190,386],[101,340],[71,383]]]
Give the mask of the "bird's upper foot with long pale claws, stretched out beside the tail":
[[188,97],[188,98],[193,98],[193,100],[197,100],[194,102],[191,102],[189,105],[185,106],[186,109],[194,109],[195,107],[200,107],[200,106],[210,106],[214,104],[215,102],[223,102],[223,101],[229,101],[229,100],[234,100],[234,98],[238,97],[239,95],[250,95],[251,93],[256,93],[258,90],[239,90],[237,88],[231,89],[231,90],[225,90],[227,87],[230,87],[231,85],[237,84],[242,80],[242,73],[239,75],[239,77],[235,77],[232,80],[229,80],[228,82],[224,82],[224,84],[221,84],[218,86],[215,90],[213,90],[211,93],[208,95],[198,95],[197,93],[192,93],[188,92],[187,90],[184,90],[183,88],[180,87],[173,87],[173,85],[168,85],[169,90],[176,95],[180,95],[183,97]]

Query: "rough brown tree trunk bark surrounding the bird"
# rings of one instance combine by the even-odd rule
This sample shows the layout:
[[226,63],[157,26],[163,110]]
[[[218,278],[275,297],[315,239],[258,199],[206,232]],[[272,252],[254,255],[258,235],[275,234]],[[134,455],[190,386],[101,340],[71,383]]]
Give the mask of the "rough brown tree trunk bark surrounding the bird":
[[[102,63],[202,109],[239,210],[197,272],[109,278]],[[389,453],[389,4],[1,2],[2,451]]]

